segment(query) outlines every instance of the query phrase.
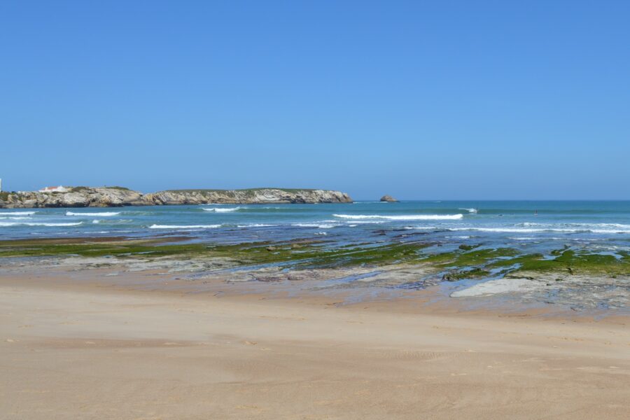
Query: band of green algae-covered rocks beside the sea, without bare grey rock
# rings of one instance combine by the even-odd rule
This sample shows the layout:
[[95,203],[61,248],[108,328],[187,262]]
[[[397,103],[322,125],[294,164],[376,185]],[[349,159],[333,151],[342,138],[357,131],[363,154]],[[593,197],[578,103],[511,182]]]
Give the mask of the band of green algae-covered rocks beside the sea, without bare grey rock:
[[[117,257],[170,258],[174,260],[211,260],[223,258],[233,265],[288,263],[295,269],[317,267],[352,267],[386,265],[425,265],[456,281],[482,278],[491,273],[526,276],[528,272],[549,274],[592,274],[630,276],[630,253],[617,255],[584,253],[562,248],[551,255],[520,254],[513,248],[465,246],[454,251],[435,253],[433,244],[394,242],[330,246],[323,241],[251,242],[236,245],[191,243],[188,237],[153,237],[149,239],[64,238],[0,241],[0,257]],[[431,247],[431,249],[429,249]]]

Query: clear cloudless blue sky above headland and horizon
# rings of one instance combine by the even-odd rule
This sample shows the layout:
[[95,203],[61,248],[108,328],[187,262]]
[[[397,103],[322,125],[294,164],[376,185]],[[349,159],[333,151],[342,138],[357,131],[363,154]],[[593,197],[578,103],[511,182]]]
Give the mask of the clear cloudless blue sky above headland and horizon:
[[630,199],[630,1],[0,2],[0,178]]

